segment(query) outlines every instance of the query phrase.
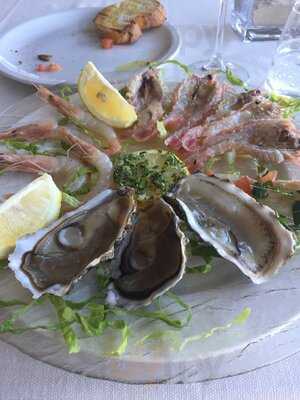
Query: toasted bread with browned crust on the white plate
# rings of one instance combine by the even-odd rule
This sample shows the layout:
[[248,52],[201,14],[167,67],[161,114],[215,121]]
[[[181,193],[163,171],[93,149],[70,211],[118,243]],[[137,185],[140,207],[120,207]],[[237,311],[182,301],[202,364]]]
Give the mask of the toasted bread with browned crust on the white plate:
[[136,42],[143,30],[161,26],[165,20],[165,8],[157,0],[124,0],[105,7],[94,23],[102,37],[125,44]]

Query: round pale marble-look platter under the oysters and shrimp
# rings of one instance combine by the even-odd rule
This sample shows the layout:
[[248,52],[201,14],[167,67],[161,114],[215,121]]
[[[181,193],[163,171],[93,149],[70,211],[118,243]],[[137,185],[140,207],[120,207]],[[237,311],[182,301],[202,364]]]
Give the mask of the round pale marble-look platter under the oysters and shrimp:
[[[29,96],[0,116],[0,130],[12,124],[49,119],[55,113],[35,95]],[[285,168],[287,176],[296,176]],[[0,176],[0,196],[14,192],[34,178],[7,173]],[[87,298],[95,290],[94,274],[77,284],[71,297]],[[192,308],[192,321],[180,334],[183,338],[226,326],[245,307],[252,312],[243,325],[218,331],[205,340],[188,344],[182,351],[173,349],[171,335],[141,344],[141,338],[170,327],[145,319],[130,321],[132,335],[126,353],[109,355],[118,337],[81,340],[81,351],[68,354],[59,334],[37,330],[22,335],[5,334],[0,340],[31,357],[85,376],[127,383],[187,383],[220,379],[242,374],[285,359],[300,351],[300,256],[295,255],[280,273],[267,283],[255,285],[233,265],[220,261],[206,274],[186,274],[173,290]],[[29,300],[9,271],[0,273],[0,299]],[[185,317],[170,298],[163,307],[177,318]],[[0,320],[5,317],[0,310]],[[20,320],[25,326],[41,324],[53,317],[51,307],[34,308]]]

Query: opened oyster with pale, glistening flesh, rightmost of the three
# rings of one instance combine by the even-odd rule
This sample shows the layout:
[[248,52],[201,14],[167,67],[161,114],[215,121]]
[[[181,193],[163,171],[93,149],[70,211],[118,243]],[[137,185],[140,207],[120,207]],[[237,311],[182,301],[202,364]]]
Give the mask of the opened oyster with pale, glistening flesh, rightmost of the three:
[[276,273],[294,253],[293,235],[274,211],[228,181],[190,175],[166,201],[202,240],[255,283]]

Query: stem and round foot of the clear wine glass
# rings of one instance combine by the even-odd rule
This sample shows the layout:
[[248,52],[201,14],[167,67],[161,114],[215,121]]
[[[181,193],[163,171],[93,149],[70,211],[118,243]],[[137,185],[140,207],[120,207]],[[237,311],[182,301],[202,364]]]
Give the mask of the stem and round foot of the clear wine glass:
[[212,56],[209,60],[198,61],[191,65],[192,70],[197,73],[201,72],[226,72],[230,69],[231,72],[237,78],[246,82],[249,79],[248,72],[238,64],[225,62],[222,55],[222,49],[224,44],[224,31],[226,24],[226,11],[228,6],[228,0],[220,0],[220,7],[218,13],[218,25],[215,40],[215,47]]

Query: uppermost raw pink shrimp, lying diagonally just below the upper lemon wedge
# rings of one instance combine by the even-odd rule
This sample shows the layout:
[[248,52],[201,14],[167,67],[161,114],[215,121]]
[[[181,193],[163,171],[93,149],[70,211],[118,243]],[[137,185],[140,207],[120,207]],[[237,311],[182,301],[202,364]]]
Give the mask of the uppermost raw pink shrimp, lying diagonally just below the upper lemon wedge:
[[104,138],[109,146],[108,149],[105,149],[107,154],[112,155],[120,152],[121,144],[113,128],[98,121],[88,111],[76,107],[52,93],[49,89],[43,86],[38,86],[37,89],[37,94],[42,100],[53,106],[60,114],[71,118],[72,122],[82,127],[92,139],[101,140],[101,138]]

